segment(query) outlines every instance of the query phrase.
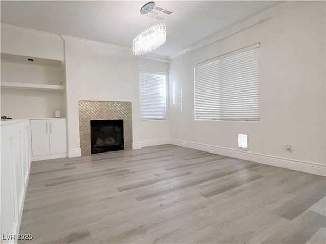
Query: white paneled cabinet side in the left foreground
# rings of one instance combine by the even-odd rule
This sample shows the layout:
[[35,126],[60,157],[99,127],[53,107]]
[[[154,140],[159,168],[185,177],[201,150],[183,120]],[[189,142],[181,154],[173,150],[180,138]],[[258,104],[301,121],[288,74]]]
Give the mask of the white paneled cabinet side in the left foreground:
[[14,243],[5,237],[19,233],[31,165],[30,120],[1,121],[0,128],[0,242]]

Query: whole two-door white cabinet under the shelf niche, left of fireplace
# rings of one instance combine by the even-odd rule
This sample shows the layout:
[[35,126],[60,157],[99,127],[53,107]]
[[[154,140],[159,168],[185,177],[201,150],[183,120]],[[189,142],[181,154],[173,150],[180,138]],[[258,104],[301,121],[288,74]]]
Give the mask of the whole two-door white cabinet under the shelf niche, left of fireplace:
[[32,119],[32,160],[67,156],[66,119]]

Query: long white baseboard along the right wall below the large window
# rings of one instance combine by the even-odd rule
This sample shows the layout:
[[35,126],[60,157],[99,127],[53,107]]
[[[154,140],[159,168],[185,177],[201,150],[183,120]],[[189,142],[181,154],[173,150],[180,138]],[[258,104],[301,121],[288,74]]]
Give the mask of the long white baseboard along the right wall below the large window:
[[220,154],[238,159],[249,160],[261,164],[273,165],[281,168],[293,169],[310,174],[326,176],[326,165],[313,162],[293,160],[270,155],[252,153],[250,151],[240,151],[219,146],[211,146],[201,143],[170,139],[170,143],[177,146],[188,147],[192,149],[207,151],[213,154]]

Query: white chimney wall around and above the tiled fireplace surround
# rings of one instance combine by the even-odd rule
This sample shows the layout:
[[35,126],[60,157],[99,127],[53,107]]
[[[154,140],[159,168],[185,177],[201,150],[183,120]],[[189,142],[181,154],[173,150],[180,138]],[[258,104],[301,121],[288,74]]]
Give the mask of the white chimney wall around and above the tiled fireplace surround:
[[130,49],[65,40],[68,155],[80,154],[80,100],[132,102],[133,143],[141,143],[138,58]]

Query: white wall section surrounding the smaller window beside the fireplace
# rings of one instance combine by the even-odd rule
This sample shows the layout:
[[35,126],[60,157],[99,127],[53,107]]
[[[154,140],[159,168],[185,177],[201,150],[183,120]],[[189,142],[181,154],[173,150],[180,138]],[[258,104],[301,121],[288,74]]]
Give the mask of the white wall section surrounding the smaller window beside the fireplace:
[[160,72],[166,75],[166,89],[167,89],[167,104],[166,104],[166,119],[165,120],[142,120],[141,121],[141,135],[142,135],[142,145],[152,146],[159,144],[169,143],[167,139],[170,138],[169,135],[169,63],[152,60],[147,58],[139,58],[139,70],[140,71],[151,71]]

